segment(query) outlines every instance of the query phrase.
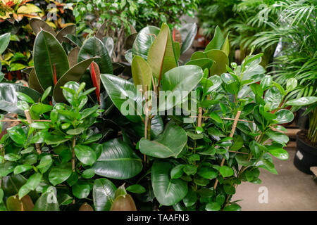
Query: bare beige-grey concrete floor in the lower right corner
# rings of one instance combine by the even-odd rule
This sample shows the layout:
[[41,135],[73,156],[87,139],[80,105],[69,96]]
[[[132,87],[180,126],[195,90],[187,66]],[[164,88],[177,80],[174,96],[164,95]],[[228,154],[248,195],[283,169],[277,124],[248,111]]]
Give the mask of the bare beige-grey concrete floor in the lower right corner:
[[[266,169],[260,169],[261,184],[244,182],[237,187],[237,193],[232,200],[241,200],[239,204],[244,211],[264,210],[317,210],[317,184],[313,176],[300,172],[293,165],[295,148],[287,148],[289,160],[282,161],[273,158],[278,175],[271,174]],[[259,195],[263,196],[266,187],[268,203],[259,203]]]

